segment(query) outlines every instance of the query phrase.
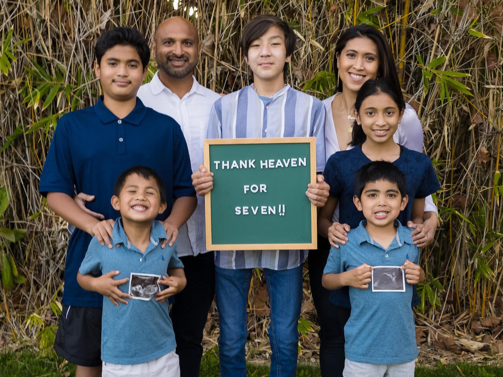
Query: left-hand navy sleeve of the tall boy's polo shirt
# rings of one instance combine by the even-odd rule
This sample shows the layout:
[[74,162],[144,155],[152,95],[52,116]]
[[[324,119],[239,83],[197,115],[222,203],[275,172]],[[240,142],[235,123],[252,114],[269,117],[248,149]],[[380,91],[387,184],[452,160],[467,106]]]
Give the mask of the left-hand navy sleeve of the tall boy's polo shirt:
[[40,175],[39,192],[44,197],[47,193],[63,193],[73,197],[75,174],[71,160],[70,142],[66,117],[58,120],[52,137],[42,174]]

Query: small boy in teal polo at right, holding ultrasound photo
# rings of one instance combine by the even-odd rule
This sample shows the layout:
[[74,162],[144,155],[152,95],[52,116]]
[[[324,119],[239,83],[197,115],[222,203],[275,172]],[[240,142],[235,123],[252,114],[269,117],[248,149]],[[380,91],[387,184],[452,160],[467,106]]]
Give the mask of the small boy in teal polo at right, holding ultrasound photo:
[[[343,375],[413,377],[418,350],[410,301],[422,269],[410,230],[396,220],[408,201],[404,174],[390,162],[364,165],[355,177],[353,201],[366,220],[352,230],[346,244],[330,249],[322,278],[328,290],[349,286]],[[393,275],[387,272],[393,268],[385,268],[378,279],[374,266],[398,271]]]

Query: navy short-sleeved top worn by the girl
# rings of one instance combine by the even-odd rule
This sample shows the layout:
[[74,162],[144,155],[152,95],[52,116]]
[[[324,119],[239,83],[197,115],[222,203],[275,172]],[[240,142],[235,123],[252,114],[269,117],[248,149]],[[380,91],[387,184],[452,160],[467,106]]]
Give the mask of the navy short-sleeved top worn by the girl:
[[[407,181],[408,203],[397,217],[397,220],[407,226],[412,213],[414,199],[426,198],[440,190],[439,180],[432,165],[430,157],[424,153],[416,152],[400,146],[401,153],[393,165],[398,167],[405,175]],[[365,220],[363,212],[358,211],[353,203],[355,190],[355,175],[363,165],[372,162],[358,145],[352,149],[332,154],[325,165],[323,176],[330,185],[330,196],[339,199],[339,222],[348,224],[352,229],[358,227]],[[349,236],[348,238],[350,238]],[[330,292],[330,301],[338,306],[350,308],[348,289],[343,288]],[[420,303],[416,288],[413,287],[412,306]]]

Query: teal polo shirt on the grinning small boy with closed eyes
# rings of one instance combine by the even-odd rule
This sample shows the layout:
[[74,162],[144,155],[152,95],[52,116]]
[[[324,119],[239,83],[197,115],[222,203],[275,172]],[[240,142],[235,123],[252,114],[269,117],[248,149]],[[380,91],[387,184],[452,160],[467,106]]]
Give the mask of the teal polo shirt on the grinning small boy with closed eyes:
[[[86,257],[80,265],[80,273],[85,275],[108,273],[119,270],[114,279],[129,277],[131,272],[166,275],[168,268],[183,268],[178,258],[176,243],[173,246],[160,247],[166,238],[164,226],[154,221],[150,231],[150,243],[145,253],[131,244],[127,238],[121,219],[117,219],[113,230],[113,249],[102,246],[93,237]],[[161,290],[165,286],[160,286]],[[122,292],[128,292],[129,282],[119,286]],[[101,295],[100,295],[101,296]],[[140,364],[151,361],[173,351],[176,348],[175,333],[170,318],[167,301],[159,303],[128,300],[129,304],[115,306],[108,297],[103,300],[101,330],[101,359],[113,364]]]

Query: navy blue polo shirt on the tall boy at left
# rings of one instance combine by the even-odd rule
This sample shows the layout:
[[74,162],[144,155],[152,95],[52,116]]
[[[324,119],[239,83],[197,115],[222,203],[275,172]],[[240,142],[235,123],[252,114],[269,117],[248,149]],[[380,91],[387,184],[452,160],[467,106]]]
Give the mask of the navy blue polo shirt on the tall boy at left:
[[[119,119],[103,104],[63,115],[52,138],[40,176],[43,196],[57,192],[95,195],[87,207],[105,219],[119,212],[110,204],[115,181],[126,169],[144,165],[154,169],[166,189],[166,210],[157,220],[170,215],[175,199],[196,195],[192,186],[189,151],[180,126],[167,115],[146,108],[137,98],[135,108]],[[77,270],[86,255],[91,235],[75,229],[68,242],[65,263],[65,305],[101,307],[103,297],[77,283]]]

